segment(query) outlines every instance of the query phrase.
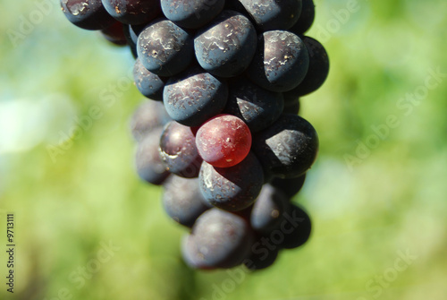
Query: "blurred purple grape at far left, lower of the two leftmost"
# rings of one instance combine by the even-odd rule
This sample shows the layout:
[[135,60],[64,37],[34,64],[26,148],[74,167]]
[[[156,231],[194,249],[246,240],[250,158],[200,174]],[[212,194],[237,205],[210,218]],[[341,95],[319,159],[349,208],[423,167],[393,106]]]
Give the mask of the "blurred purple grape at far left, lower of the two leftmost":
[[158,154],[158,145],[163,128],[156,128],[148,133],[137,145],[135,165],[139,177],[149,184],[163,184],[169,176]]

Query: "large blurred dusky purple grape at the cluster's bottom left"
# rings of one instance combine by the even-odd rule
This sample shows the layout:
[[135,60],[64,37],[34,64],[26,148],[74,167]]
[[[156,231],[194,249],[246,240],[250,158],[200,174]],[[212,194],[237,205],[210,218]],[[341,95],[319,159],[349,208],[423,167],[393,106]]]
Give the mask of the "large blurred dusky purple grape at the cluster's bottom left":
[[248,257],[253,240],[253,232],[245,219],[211,209],[198,217],[191,235],[183,240],[182,253],[194,268],[232,268]]

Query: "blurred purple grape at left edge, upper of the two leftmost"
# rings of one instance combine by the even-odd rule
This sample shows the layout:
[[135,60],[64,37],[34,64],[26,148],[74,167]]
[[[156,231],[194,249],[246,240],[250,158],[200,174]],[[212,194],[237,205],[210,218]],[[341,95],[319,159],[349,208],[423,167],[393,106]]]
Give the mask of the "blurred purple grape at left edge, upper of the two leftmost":
[[[131,118],[131,133],[136,141],[144,139],[157,127],[163,127],[171,118],[160,102],[146,100],[135,109]],[[158,138],[159,140],[159,138]]]

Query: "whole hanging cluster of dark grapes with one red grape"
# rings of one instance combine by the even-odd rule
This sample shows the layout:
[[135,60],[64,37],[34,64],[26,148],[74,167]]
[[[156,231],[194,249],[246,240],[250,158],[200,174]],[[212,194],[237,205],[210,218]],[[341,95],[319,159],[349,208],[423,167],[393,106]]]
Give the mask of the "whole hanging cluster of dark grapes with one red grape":
[[325,48],[305,36],[312,0],[61,0],[69,21],[135,57],[144,101],[131,119],[136,168],[190,228],[193,268],[268,267],[306,243],[291,198],[316,159],[299,98],[325,81]]

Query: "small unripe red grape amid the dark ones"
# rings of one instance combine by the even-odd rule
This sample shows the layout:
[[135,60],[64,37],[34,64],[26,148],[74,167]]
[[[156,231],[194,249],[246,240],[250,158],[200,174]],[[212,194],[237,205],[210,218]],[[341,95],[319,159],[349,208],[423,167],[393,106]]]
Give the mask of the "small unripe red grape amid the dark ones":
[[232,167],[247,157],[251,147],[249,126],[237,116],[218,115],[196,134],[198,154],[215,167]]

